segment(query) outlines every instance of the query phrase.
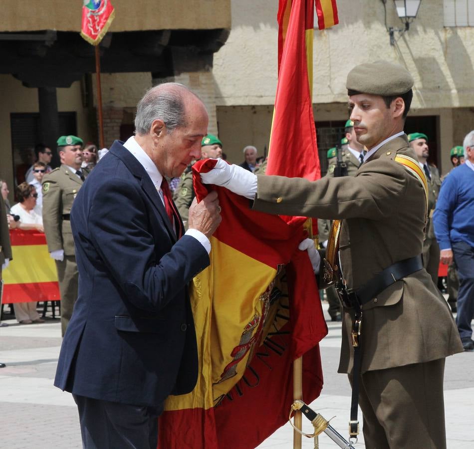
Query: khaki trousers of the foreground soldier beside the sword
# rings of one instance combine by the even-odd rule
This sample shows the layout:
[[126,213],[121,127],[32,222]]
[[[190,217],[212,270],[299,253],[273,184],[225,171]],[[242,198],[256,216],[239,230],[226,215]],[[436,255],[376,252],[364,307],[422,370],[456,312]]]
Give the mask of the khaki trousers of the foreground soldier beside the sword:
[[366,449],[446,448],[444,370],[439,359],[362,374]]

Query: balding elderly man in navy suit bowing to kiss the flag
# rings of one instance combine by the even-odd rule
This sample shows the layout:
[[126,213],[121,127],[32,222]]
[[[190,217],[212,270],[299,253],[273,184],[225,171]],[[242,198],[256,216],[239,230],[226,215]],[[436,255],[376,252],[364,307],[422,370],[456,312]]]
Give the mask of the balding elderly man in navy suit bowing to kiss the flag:
[[54,385],[76,401],[84,448],[155,449],[163,401],[196,384],[188,283],[209,265],[220,207],[216,192],[195,200],[184,233],[165,177],[201,156],[207,127],[185,86],[150,89],[136,135],[114,142],[74,201],[79,291]]

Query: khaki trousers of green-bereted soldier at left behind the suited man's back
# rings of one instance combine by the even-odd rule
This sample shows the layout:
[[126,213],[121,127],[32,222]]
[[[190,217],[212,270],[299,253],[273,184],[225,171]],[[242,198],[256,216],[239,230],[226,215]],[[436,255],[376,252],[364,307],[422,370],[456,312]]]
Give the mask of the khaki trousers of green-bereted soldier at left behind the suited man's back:
[[56,269],[61,293],[61,335],[64,337],[77,299],[79,272],[76,257],[65,255],[64,260],[56,260]]

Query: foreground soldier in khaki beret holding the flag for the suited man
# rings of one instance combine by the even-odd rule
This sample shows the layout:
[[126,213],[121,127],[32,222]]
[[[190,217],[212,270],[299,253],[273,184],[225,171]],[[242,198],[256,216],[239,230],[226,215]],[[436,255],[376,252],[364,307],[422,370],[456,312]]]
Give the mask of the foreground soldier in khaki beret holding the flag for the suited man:
[[[463,352],[421,261],[428,189],[403,132],[412,86],[404,67],[386,61],[349,72],[350,118],[368,149],[355,177],[255,176],[219,162],[201,175],[256,211],[342,221],[332,257],[344,300],[338,371],[358,390],[365,443],[377,449],[446,448],[445,358]],[[353,413],[350,429],[358,433]]]

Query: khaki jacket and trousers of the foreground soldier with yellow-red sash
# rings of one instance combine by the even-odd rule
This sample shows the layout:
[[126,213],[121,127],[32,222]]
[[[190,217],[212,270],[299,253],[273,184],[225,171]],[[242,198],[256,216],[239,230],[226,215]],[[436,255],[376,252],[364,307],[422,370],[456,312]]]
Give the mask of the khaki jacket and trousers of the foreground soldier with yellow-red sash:
[[[380,147],[355,177],[310,182],[257,176],[253,209],[342,220],[341,271],[347,288],[357,290],[395,262],[422,253],[425,191],[397,155],[416,161],[406,135]],[[362,313],[359,404],[367,447],[444,448],[444,362],[463,352],[445,299],[421,268],[372,297]],[[354,310],[344,307],[340,373],[353,368],[353,319]],[[433,387],[427,396],[426,382]]]

